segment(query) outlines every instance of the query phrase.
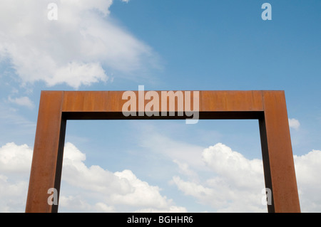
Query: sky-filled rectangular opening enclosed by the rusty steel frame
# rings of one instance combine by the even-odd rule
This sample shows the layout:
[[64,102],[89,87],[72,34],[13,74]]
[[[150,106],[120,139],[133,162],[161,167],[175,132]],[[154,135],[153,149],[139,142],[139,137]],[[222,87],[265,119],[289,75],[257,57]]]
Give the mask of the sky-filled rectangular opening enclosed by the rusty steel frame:
[[59,212],[266,212],[260,149],[258,120],[68,120]]

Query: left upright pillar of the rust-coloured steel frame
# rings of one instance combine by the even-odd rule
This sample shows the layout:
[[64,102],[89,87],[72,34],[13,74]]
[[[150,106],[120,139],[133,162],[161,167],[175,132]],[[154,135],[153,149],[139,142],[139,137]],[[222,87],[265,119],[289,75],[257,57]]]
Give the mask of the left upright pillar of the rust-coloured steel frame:
[[63,91],[41,92],[26,212],[58,211],[58,204],[48,202],[51,196],[48,191],[57,192],[58,201],[66,132],[62,104]]

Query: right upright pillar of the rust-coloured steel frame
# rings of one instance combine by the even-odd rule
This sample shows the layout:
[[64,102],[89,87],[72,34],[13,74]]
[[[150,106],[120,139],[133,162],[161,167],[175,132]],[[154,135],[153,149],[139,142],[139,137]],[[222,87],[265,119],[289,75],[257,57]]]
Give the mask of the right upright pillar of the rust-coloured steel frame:
[[262,91],[259,119],[265,186],[272,191],[269,212],[300,212],[285,93]]

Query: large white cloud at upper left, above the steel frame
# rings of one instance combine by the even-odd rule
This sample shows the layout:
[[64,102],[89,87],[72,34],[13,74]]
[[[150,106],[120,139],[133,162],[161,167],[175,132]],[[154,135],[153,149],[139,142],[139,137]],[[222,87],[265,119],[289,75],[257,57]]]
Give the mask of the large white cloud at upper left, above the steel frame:
[[22,83],[79,88],[155,59],[149,46],[111,19],[113,1],[56,1],[57,20],[48,19],[49,3],[1,1],[0,56],[9,58]]

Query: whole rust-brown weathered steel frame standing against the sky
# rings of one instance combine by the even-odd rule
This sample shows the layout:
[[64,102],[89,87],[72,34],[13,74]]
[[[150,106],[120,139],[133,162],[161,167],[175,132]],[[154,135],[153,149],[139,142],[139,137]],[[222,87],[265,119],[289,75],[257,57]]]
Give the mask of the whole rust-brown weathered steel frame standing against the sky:
[[[138,106],[138,91],[135,93]],[[127,100],[122,100],[122,95],[123,91],[41,92],[26,212],[58,211],[58,205],[48,204],[50,194],[47,192],[55,188],[59,196],[67,120],[186,118],[178,117],[177,105],[175,116],[124,117],[122,107]],[[161,91],[158,95],[161,97]],[[267,211],[300,212],[285,93],[267,90],[200,91],[199,107],[200,120],[259,121],[265,186],[272,191],[272,204],[267,205]],[[168,110],[171,109],[168,107]]]

